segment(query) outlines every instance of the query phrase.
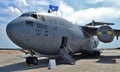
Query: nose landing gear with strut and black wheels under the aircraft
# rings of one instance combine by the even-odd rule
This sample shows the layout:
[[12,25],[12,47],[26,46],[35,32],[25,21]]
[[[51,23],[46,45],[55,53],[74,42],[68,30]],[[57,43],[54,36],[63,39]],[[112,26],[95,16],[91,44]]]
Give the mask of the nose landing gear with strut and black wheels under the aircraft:
[[26,57],[26,65],[37,65],[38,58],[35,56],[35,52],[30,50],[28,52],[31,56]]

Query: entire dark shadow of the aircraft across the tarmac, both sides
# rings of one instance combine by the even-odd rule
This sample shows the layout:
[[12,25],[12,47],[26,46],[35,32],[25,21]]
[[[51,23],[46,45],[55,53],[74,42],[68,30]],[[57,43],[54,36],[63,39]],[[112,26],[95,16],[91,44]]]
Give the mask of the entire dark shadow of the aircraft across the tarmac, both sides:
[[[99,57],[89,57],[89,56],[82,56],[82,55],[75,55],[73,57],[75,61],[81,59],[98,59],[96,63],[108,63],[108,64],[115,64],[115,59],[120,59],[120,56],[99,56]],[[55,57],[57,65],[67,64],[61,57]],[[14,71],[24,71],[24,70],[31,70],[37,68],[45,68],[48,67],[48,59],[40,59],[39,64],[36,66],[26,66],[25,62],[19,62],[15,64],[6,65],[0,67],[0,72],[14,72]]]

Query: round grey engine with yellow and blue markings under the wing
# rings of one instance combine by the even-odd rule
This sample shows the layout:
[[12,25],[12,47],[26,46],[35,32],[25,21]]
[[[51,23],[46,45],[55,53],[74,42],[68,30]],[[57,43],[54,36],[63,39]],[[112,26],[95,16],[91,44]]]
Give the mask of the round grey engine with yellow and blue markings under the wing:
[[110,26],[101,26],[97,29],[97,37],[101,42],[112,42],[114,39],[114,31]]

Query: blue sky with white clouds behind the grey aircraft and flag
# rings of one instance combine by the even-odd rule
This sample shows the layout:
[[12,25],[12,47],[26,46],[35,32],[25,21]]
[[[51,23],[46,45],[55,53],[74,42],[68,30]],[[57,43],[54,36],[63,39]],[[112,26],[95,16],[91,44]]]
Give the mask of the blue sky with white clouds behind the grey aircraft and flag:
[[[115,23],[120,29],[120,0],[0,0],[0,48],[16,48],[6,35],[6,25],[22,13],[47,12],[49,5],[59,6],[58,15],[74,24],[85,25],[92,20]],[[120,47],[120,40],[99,47]]]

